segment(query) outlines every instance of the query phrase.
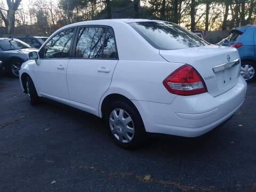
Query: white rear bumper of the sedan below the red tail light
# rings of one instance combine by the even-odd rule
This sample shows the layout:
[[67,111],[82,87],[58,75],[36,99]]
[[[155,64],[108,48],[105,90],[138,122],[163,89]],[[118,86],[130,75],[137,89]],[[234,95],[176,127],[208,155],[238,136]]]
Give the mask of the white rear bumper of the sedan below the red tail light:
[[244,79],[239,77],[232,89],[217,97],[203,93],[188,97],[178,95],[171,104],[133,102],[147,132],[197,137],[225,122],[241,107],[246,87]]

